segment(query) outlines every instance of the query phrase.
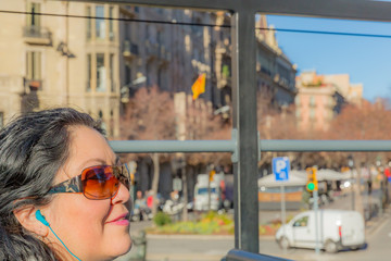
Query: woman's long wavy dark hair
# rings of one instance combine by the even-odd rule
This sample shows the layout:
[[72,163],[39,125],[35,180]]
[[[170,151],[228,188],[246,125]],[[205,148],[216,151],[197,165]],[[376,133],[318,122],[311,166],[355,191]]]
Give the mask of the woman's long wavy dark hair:
[[56,260],[13,211],[50,202],[47,192],[68,158],[70,126],[75,125],[104,135],[99,122],[70,108],[27,113],[0,130],[0,260]]

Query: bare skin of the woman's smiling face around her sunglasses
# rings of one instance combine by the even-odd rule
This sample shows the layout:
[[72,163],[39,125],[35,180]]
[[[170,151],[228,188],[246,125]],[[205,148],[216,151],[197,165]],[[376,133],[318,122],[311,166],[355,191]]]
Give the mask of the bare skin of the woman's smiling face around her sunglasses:
[[[86,126],[71,127],[70,158],[54,178],[59,184],[93,165],[113,165],[116,156],[97,130]],[[66,247],[83,261],[110,260],[131,247],[129,235],[129,191],[121,184],[111,199],[91,200],[83,194],[58,194],[41,210],[46,220]],[[61,245],[52,233],[48,239]],[[61,247],[62,253],[70,254]]]

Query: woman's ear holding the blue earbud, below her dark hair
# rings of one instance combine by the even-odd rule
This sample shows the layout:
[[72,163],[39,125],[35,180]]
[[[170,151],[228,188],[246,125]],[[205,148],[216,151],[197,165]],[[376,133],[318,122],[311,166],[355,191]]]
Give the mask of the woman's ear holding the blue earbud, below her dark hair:
[[38,209],[34,206],[27,206],[22,209],[14,210],[13,213],[25,229],[39,236],[47,237],[49,228],[37,220],[36,211],[38,211]]

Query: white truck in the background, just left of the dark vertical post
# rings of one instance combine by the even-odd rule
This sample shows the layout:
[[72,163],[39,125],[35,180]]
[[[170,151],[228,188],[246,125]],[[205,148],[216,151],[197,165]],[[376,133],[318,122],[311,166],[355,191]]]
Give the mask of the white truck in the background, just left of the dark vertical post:
[[224,175],[215,174],[213,181],[211,182],[209,178],[209,174],[199,174],[197,176],[197,183],[194,186],[195,211],[217,211],[222,207],[220,182],[224,178]]

